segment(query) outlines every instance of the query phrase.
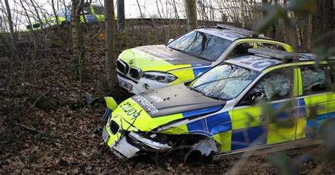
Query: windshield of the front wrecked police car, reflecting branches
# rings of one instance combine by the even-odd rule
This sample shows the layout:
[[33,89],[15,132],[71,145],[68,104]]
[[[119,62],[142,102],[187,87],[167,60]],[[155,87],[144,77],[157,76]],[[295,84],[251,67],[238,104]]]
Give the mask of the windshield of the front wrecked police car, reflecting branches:
[[194,80],[189,87],[207,97],[230,100],[240,95],[259,73],[233,64],[221,64]]

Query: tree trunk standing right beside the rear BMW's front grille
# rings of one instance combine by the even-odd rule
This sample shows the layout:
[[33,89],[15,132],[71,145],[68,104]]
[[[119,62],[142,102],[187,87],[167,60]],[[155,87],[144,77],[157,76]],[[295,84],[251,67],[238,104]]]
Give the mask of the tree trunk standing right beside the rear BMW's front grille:
[[114,1],[105,0],[106,11],[106,80],[107,93],[114,95],[117,92],[117,65],[113,58],[114,50]]

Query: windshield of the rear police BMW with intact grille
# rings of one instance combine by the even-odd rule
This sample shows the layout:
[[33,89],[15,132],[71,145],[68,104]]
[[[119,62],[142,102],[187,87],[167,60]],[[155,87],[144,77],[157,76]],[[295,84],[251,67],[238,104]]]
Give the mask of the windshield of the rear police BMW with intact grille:
[[167,45],[171,49],[209,61],[216,61],[232,41],[205,32],[192,31]]

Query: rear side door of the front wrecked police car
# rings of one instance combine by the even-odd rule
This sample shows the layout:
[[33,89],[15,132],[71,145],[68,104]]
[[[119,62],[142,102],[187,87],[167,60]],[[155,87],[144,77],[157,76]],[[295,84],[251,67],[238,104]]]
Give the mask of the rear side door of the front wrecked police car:
[[331,66],[300,68],[299,117],[305,120],[305,130],[297,138],[313,136],[324,121],[335,119],[335,70]]

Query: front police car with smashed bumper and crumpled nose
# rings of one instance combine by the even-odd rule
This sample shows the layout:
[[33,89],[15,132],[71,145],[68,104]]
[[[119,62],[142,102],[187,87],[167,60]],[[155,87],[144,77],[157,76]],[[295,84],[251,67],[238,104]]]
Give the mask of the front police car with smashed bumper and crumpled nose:
[[119,105],[106,97],[103,140],[119,157],[186,149],[185,159],[194,159],[290,145],[313,138],[335,118],[335,60],[274,49],[249,52],[189,85],[149,90]]

